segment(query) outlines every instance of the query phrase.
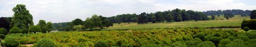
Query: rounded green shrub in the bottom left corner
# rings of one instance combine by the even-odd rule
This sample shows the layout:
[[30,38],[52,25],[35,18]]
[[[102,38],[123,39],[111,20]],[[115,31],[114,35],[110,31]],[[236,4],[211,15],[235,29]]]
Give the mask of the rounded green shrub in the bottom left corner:
[[7,47],[16,47],[19,45],[19,41],[14,37],[9,37],[5,39],[4,45]]

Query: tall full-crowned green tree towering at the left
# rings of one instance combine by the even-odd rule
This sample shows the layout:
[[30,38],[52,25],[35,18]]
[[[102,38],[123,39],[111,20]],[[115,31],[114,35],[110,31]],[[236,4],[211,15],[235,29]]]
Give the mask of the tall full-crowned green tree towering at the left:
[[12,27],[28,28],[33,26],[33,16],[29,13],[25,5],[19,4],[12,9],[14,12],[13,19],[11,22]]

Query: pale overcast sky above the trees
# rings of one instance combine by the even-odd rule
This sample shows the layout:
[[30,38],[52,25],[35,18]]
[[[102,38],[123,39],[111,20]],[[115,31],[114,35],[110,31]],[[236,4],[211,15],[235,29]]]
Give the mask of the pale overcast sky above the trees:
[[37,24],[40,19],[69,22],[76,18],[85,20],[93,14],[110,17],[176,8],[195,11],[255,10],[255,2],[256,0],[0,0],[0,17],[11,17],[12,8],[17,4],[26,5]]

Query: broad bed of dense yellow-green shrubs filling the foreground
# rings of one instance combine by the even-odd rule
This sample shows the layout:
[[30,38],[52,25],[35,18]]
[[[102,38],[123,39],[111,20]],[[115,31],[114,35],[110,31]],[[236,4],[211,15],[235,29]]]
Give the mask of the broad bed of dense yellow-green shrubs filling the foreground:
[[[197,34],[197,35],[196,35]],[[204,34],[204,35],[202,35]],[[200,36],[199,38],[196,36]],[[41,39],[51,39],[56,46],[241,46],[255,45],[256,32],[211,29],[133,29],[103,30],[93,32],[55,32],[37,34],[8,34],[20,44],[33,44]],[[203,38],[202,38],[203,37]],[[249,39],[248,39],[249,38]],[[232,40],[231,40],[232,39]],[[238,40],[237,40],[238,39]],[[230,42],[231,41],[231,42]],[[230,43],[229,43],[230,42]],[[239,42],[239,43],[237,43]],[[250,43],[250,44],[248,44]]]

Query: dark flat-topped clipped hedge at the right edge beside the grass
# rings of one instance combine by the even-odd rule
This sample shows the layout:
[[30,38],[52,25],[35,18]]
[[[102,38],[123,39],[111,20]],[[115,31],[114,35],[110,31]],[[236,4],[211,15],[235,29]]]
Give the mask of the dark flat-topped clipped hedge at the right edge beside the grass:
[[243,20],[241,23],[241,28],[248,27],[250,29],[256,29],[256,19]]

